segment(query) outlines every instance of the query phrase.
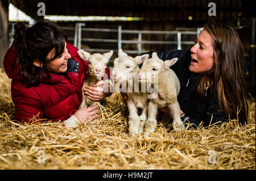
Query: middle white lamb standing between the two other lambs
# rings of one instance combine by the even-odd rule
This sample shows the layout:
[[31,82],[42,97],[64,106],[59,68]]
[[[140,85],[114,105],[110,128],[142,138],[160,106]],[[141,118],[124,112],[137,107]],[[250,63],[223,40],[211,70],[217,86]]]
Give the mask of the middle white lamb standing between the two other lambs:
[[[115,87],[119,89],[119,84],[125,86],[127,93],[127,107],[129,110],[129,131],[131,134],[143,132],[144,124],[147,119],[147,92],[141,91],[138,82],[139,64],[148,58],[148,54],[137,56],[135,58],[128,56],[118,50],[118,58],[114,60],[114,68],[112,70],[112,79],[117,83]],[[137,83],[135,83],[137,81]],[[122,87],[123,89],[124,87]],[[142,109],[141,116],[138,115],[138,108]]]

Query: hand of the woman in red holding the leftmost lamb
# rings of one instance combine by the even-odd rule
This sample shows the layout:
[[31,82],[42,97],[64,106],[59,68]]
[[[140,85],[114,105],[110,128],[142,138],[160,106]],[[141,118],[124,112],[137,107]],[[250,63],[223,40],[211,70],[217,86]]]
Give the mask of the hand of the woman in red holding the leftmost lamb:
[[93,86],[86,86],[84,89],[85,94],[88,95],[90,100],[100,101],[110,94],[110,92],[104,92],[104,85],[110,86],[109,84],[104,84],[104,81],[98,81]]

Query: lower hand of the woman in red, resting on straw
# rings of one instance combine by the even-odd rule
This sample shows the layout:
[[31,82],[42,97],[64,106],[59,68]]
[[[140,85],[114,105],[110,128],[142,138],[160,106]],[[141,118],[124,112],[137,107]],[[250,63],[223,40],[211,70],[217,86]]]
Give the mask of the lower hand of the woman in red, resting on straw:
[[100,115],[98,114],[100,110],[98,110],[98,106],[94,105],[92,107],[87,108],[85,106],[84,108],[81,108],[80,110],[77,110],[74,115],[79,119],[80,122],[85,121],[86,119],[97,119]]

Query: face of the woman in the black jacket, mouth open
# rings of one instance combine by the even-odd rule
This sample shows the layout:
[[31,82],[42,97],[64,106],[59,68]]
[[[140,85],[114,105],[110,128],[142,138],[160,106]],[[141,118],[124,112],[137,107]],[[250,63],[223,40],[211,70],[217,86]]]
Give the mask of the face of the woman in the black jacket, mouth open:
[[191,63],[189,70],[195,73],[207,74],[214,71],[213,39],[210,34],[203,30],[197,36],[196,44],[190,49]]

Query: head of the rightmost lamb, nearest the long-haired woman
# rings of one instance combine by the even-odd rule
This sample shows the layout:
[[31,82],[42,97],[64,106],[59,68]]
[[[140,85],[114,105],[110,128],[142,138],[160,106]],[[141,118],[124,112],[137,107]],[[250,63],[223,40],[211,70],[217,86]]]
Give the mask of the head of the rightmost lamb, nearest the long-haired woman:
[[159,74],[167,71],[170,66],[174,65],[178,58],[163,61],[159,59],[158,55],[152,53],[152,58],[143,62],[141,70],[139,70],[139,81],[147,83],[158,83]]

